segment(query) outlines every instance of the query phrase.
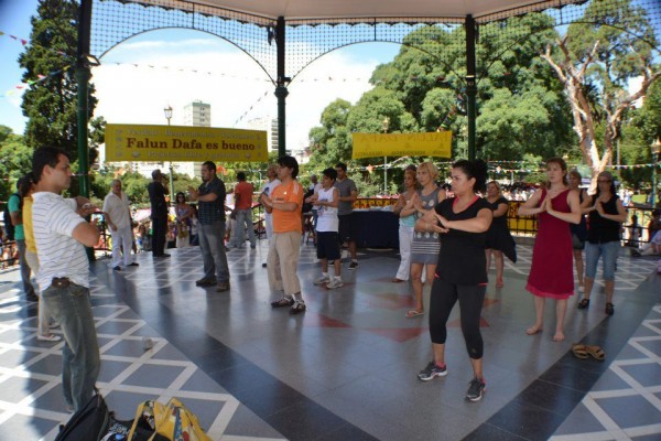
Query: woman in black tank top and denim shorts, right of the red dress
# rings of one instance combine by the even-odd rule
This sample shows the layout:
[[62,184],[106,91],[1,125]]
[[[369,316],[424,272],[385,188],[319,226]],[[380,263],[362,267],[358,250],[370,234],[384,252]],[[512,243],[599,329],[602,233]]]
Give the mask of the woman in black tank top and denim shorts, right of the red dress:
[[585,245],[585,292],[578,309],[589,306],[589,294],[595,284],[599,258],[604,265],[604,288],[606,292],[606,314],[613,315],[613,293],[615,291],[615,266],[620,249],[620,230],[627,219],[627,212],[615,192],[613,174],[602,172],[597,176],[597,193],[585,200],[581,206],[589,217],[587,244]]

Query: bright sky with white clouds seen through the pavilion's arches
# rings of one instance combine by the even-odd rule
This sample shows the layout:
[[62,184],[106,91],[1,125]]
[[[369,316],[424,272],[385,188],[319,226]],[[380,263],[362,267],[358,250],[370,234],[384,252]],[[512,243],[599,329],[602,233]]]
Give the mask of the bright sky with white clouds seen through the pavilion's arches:
[[[30,17],[36,7],[36,0],[0,0],[0,125],[15,133],[23,133],[26,121],[15,89],[24,47],[9,35],[30,40]],[[286,98],[288,149],[307,146],[310,129],[333,100],[355,104],[371,88],[373,68],[391,61],[399,49],[387,43],[353,45],[322,56],[299,74]],[[165,125],[163,109],[172,106],[172,125],[183,125],[184,106],[193,100],[210,104],[213,127],[247,128],[250,119],[278,115],[274,86],[257,63],[203,32],[148,32],[122,42],[100,62],[91,72],[99,100],[95,117],[110,123]]]

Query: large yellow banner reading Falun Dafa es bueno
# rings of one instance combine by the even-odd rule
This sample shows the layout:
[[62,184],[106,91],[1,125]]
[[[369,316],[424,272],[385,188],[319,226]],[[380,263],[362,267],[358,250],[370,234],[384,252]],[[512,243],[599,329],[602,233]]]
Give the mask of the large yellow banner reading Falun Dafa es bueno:
[[106,126],[106,161],[269,160],[267,132],[189,126]]

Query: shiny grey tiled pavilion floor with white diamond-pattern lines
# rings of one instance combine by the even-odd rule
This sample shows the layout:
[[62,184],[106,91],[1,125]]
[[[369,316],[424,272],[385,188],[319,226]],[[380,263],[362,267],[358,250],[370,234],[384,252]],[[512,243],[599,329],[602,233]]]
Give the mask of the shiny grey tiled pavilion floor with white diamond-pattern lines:
[[[488,391],[464,399],[470,369],[458,311],[451,316],[447,377],[415,378],[431,357],[426,318],[405,319],[410,288],[390,279],[393,252],[359,256],[345,286],[314,287],[312,244],[300,263],[307,312],[272,310],[266,244],[229,254],[231,291],[202,276],[197,248],[141,266],[94,265],[93,304],[101,345],[98,386],[121,419],[150,398],[176,396],[214,439],[609,440],[661,437],[661,276],[655,260],[619,260],[616,314],[595,292],[567,314],[563,343],[546,330],[527,336],[532,301],[523,287],[528,246],[508,262],[506,288],[487,291],[483,311]],[[52,440],[68,417],[59,390],[62,344],[35,340],[36,309],[19,297],[17,271],[0,275],[0,439]],[[600,286],[598,284],[596,291]],[[427,294],[429,297],[429,294]],[[151,337],[154,347],[143,348]],[[598,344],[605,363],[579,361],[573,341]],[[622,410],[624,409],[624,410]],[[654,438],[657,437],[657,438]]]

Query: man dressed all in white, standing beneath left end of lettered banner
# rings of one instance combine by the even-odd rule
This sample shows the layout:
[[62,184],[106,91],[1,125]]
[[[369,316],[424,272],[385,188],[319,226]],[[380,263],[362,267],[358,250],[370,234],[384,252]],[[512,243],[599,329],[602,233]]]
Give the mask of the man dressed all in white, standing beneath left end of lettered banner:
[[121,191],[120,180],[113,180],[110,185],[111,192],[104,200],[104,215],[112,237],[112,263],[110,266],[115,271],[119,271],[121,270],[119,263],[122,261],[122,250],[124,267],[137,267],[138,262],[133,261],[131,256],[133,232],[129,198]]

